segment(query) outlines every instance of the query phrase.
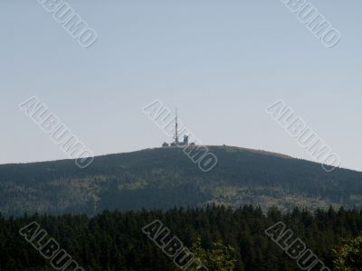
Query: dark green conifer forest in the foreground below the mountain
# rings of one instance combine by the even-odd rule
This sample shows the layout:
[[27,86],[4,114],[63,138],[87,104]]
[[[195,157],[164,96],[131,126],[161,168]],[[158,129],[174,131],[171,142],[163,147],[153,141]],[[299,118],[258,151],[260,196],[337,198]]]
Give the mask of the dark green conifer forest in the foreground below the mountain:
[[295,261],[265,234],[266,229],[279,221],[331,269],[341,264],[336,262],[333,250],[340,251],[346,240],[362,233],[362,210],[343,208],[314,212],[299,209],[281,212],[271,208],[264,213],[261,208],[246,205],[238,209],[209,206],[126,212],[104,210],[94,217],[0,216],[0,269],[51,270],[49,260],[19,233],[25,225],[35,221],[84,270],[175,270],[172,260],[142,232],[154,220],[162,221],[186,248],[195,249],[197,240],[200,241],[197,249],[205,251],[215,242],[231,248],[229,257],[233,258],[233,270],[245,271],[299,270]]

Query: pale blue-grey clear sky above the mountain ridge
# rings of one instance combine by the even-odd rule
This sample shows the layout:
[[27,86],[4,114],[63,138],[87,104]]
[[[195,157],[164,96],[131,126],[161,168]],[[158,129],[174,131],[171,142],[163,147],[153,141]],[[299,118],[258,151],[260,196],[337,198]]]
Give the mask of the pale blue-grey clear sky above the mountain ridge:
[[0,164],[67,158],[19,109],[33,96],[96,155],[171,141],[142,112],[158,99],[206,145],[313,160],[265,113],[283,100],[362,171],[361,1],[310,1],[333,48],[280,0],[67,3],[98,34],[88,49],[37,1],[0,2]]

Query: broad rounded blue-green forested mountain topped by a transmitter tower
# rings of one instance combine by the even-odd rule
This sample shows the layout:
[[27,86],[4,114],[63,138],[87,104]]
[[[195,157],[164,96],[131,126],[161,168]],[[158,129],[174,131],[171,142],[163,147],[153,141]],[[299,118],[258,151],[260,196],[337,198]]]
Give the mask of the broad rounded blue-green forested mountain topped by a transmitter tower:
[[73,160],[0,165],[0,212],[95,214],[208,203],[310,210],[362,206],[362,173],[232,146],[207,146],[218,163],[201,171],[179,147]]

